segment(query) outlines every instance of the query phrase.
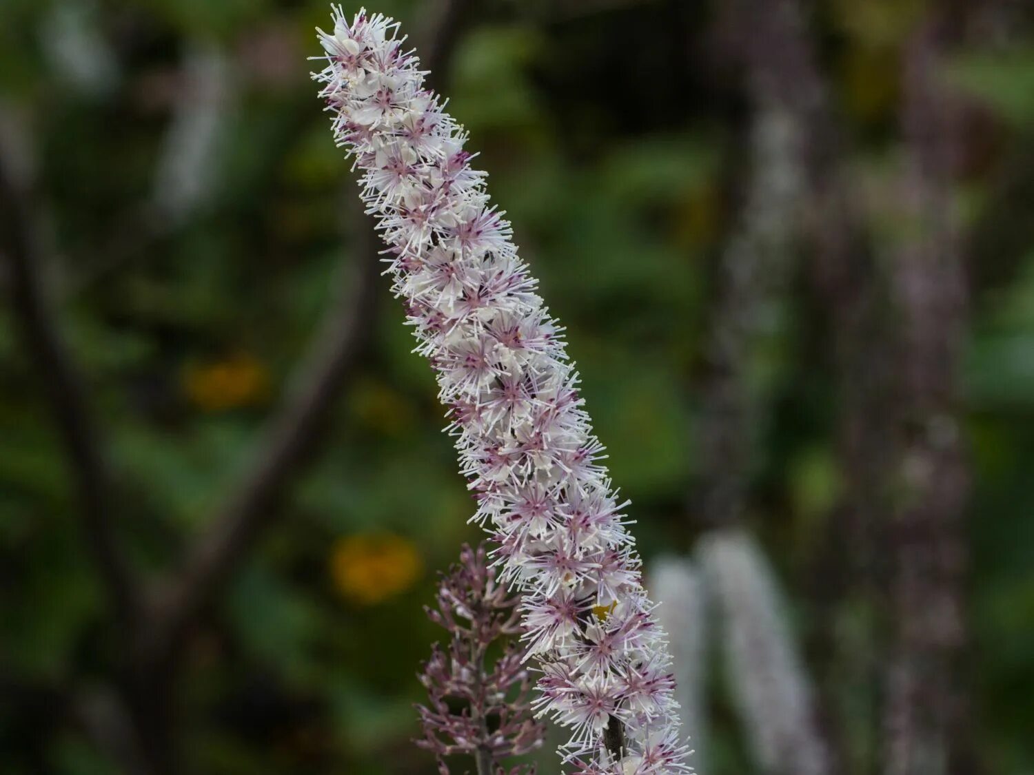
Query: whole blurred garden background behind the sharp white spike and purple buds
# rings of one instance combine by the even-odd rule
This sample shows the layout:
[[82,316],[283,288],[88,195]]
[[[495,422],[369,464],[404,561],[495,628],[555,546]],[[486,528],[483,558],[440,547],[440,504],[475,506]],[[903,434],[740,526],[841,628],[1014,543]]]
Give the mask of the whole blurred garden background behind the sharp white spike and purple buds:
[[[1034,772],[1030,4],[369,4],[568,327],[647,571],[758,550],[665,593],[698,770]],[[435,771],[422,607],[478,531],[328,24],[0,2],[3,773]]]

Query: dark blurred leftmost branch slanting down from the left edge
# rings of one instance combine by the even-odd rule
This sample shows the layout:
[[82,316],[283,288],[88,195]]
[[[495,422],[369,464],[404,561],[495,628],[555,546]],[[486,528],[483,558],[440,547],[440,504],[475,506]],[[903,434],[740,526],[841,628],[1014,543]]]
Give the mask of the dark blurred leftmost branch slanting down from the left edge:
[[11,310],[64,445],[87,549],[116,616],[130,622],[136,614],[138,599],[111,522],[111,472],[82,377],[48,305],[42,281],[47,256],[31,183],[19,181],[11,172],[13,166],[10,159],[0,158],[0,253],[7,266]]

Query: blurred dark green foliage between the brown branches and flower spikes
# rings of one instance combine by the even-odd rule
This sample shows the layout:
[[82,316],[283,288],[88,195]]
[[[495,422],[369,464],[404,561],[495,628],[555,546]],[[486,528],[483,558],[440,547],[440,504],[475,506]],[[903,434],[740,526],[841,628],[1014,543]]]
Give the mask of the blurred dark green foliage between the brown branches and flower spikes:
[[[744,122],[734,76],[701,53],[712,9],[476,5],[447,89],[451,111],[568,326],[644,556],[689,550],[701,528],[688,505],[699,471],[701,347],[714,259],[735,221]],[[900,163],[899,74],[885,59],[906,24],[895,14],[917,5],[829,0],[817,16],[858,185],[876,196]],[[312,28],[326,26],[325,3],[88,7],[116,41],[122,66],[113,90],[77,89],[48,55],[55,3],[3,0],[0,111],[33,127],[61,329],[125,487],[120,533],[134,564],[158,571],[175,563],[246,462],[362,243],[342,205],[355,195],[348,164],[305,61],[318,53]],[[401,0],[375,9],[414,31],[427,16],[422,3]],[[672,20],[682,27],[669,40]],[[233,67],[211,190],[183,223],[110,266],[111,246],[131,239],[133,216],[152,194],[180,52],[192,43],[219,47]],[[981,100],[986,121],[959,192],[967,224],[983,236],[970,256],[965,371],[976,735],[990,772],[1018,775],[1034,769],[1034,38],[1028,33],[1007,55],[960,57],[952,76]],[[823,626],[809,595],[820,583],[814,574],[841,474],[831,366],[805,285],[793,284],[781,333],[749,388],[774,407],[756,433],[752,522],[807,646]],[[420,700],[414,674],[437,637],[421,607],[434,569],[477,531],[466,525],[472,501],[439,431],[431,372],[409,353],[384,278],[379,291],[368,354],[320,454],[291,496],[270,504],[275,527],[191,638],[181,723],[192,771],[433,771],[407,742]],[[265,389],[217,408],[199,402],[190,375],[242,353]],[[0,316],[0,664],[39,680],[102,675],[111,634],[97,626],[101,590],[9,315]],[[412,541],[423,570],[366,605],[336,585],[330,567],[341,539],[381,532]],[[843,616],[850,631],[855,614]],[[711,761],[699,769],[749,771],[742,733],[721,679],[713,683]],[[821,690],[853,707],[844,687]],[[0,696],[0,771],[35,772],[30,751],[40,746],[51,772],[116,771],[73,727],[33,718]],[[555,769],[551,756],[544,762]]]

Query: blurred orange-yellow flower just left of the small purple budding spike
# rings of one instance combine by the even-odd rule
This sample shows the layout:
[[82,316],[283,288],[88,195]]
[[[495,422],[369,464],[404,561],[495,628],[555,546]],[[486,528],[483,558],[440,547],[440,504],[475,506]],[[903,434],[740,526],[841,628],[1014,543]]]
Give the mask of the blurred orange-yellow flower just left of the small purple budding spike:
[[422,570],[417,545],[390,533],[338,538],[330,557],[330,574],[337,590],[365,606],[375,606],[408,589]]

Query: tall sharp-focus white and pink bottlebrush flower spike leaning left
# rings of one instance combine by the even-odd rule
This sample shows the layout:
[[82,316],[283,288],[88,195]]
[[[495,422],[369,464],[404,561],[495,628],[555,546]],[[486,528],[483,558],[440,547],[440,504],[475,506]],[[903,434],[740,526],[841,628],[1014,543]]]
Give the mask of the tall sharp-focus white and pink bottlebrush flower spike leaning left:
[[592,435],[562,331],[470,167],[466,135],[424,87],[398,25],[340,7],[313,78],[388,245],[393,289],[437,372],[474,520],[523,594],[534,703],[569,727],[580,773],[688,772],[671,659]]

